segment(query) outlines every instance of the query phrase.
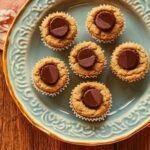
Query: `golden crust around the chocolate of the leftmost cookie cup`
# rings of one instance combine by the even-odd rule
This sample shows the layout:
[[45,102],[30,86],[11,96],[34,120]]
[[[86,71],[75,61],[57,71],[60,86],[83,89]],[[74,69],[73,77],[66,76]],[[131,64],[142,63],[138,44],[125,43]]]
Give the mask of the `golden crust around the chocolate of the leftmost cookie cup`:
[[[60,79],[58,80],[56,84],[51,85],[51,86],[45,84],[40,78],[40,69],[42,66],[46,64],[54,64],[57,66],[59,70]],[[60,61],[57,58],[47,57],[47,58],[40,60],[35,65],[33,72],[32,72],[32,79],[33,79],[35,86],[39,90],[49,93],[49,94],[53,94],[53,93],[58,92],[67,84],[67,82],[69,81],[69,75],[68,75],[68,70],[63,61]]]

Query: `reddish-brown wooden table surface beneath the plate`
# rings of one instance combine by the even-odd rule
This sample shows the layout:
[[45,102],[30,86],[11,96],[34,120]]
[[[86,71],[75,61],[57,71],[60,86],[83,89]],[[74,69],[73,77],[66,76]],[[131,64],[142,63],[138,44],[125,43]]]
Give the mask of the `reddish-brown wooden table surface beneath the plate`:
[[60,142],[33,127],[18,110],[5,84],[0,53],[0,150],[150,150],[150,128],[132,138],[106,146],[77,146]]

